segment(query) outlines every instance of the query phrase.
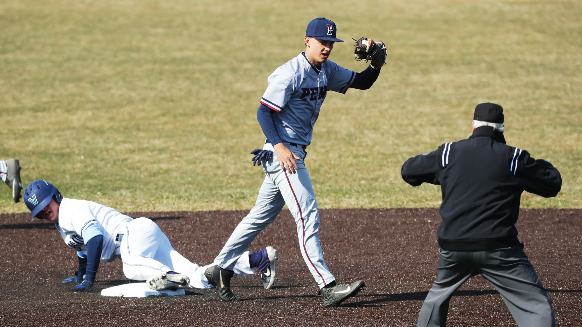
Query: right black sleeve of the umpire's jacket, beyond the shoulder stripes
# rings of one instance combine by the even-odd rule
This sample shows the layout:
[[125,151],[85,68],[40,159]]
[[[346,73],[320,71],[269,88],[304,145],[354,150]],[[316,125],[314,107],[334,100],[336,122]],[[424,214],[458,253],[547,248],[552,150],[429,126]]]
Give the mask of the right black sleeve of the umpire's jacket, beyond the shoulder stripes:
[[562,176],[558,169],[545,160],[535,160],[524,150],[517,171],[519,184],[529,193],[545,198],[555,197],[562,189]]

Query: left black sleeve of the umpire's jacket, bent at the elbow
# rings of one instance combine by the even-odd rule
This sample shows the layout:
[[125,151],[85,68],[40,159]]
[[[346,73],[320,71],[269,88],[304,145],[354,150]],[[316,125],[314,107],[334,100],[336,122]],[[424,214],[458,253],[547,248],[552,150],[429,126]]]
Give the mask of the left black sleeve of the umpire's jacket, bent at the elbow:
[[438,163],[438,150],[430,154],[419,154],[416,157],[409,158],[402,165],[400,175],[404,182],[412,186],[419,186],[422,183],[431,183],[439,185],[438,175],[441,167]]

